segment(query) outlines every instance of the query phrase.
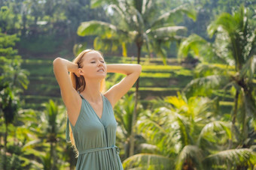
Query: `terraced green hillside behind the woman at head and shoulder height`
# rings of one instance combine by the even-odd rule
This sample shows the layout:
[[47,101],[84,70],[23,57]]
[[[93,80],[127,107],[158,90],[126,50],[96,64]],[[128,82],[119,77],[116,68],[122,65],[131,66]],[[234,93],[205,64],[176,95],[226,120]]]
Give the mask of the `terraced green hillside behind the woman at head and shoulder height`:
[[[105,57],[108,64],[112,63],[136,63],[132,58]],[[62,103],[59,86],[53,74],[53,60],[25,59],[22,67],[29,70],[29,88],[24,92],[22,100],[25,108],[43,109],[41,103],[50,99]],[[169,59],[168,65],[163,65],[160,59],[152,58],[150,61],[142,58],[142,74],[139,79],[139,97],[144,106],[152,100],[177,94],[187,83],[193,79],[192,69],[189,66],[181,66],[177,60]],[[109,73],[106,79],[106,88],[120,81],[121,74]],[[132,88],[130,92],[135,91]],[[221,93],[216,94],[221,96]],[[224,108],[230,109],[228,101],[232,100],[226,95]]]

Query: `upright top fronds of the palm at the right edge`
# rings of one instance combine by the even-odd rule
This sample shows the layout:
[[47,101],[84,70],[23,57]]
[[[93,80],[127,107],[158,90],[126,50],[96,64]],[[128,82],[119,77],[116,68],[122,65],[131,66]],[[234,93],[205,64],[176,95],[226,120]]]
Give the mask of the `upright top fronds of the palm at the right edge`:
[[248,13],[243,6],[233,15],[222,13],[218,16],[209,25],[208,33],[210,37],[216,34],[215,43],[224,47],[221,51],[222,55],[226,55],[225,58],[227,55],[233,58],[236,71],[241,70],[242,65],[253,55],[255,34],[250,28]]

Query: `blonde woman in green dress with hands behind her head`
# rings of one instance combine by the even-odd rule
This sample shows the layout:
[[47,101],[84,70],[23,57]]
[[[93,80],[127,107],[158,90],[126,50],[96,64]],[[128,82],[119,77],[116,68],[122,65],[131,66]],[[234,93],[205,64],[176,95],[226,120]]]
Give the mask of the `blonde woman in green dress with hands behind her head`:
[[[141,65],[105,64],[100,52],[86,49],[73,62],[56,58],[53,71],[68,114],[66,137],[78,152],[76,169],[123,169],[113,108],[139,78]],[[107,73],[126,77],[102,94]]]

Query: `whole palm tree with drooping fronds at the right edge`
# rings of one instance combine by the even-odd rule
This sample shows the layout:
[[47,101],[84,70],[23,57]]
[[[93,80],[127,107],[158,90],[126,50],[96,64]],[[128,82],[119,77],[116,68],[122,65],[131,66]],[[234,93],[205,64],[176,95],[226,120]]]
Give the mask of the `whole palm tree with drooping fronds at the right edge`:
[[[187,56],[188,52],[192,51],[201,61],[215,62],[212,65],[200,64],[196,69],[197,79],[190,82],[185,91],[188,95],[210,95],[215,89],[227,91],[232,87],[233,139],[236,136],[236,128],[241,129],[236,136],[237,145],[245,146],[248,129],[253,126],[250,120],[256,118],[252,82],[256,65],[256,29],[249,21],[248,10],[241,6],[233,15],[222,13],[218,16],[209,25],[208,33],[210,37],[215,35],[214,43],[208,43],[197,35],[191,35],[181,43],[180,56]],[[227,64],[227,67],[218,67],[220,63]],[[236,123],[239,123],[238,126]],[[229,148],[233,148],[233,140],[230,140]]]

